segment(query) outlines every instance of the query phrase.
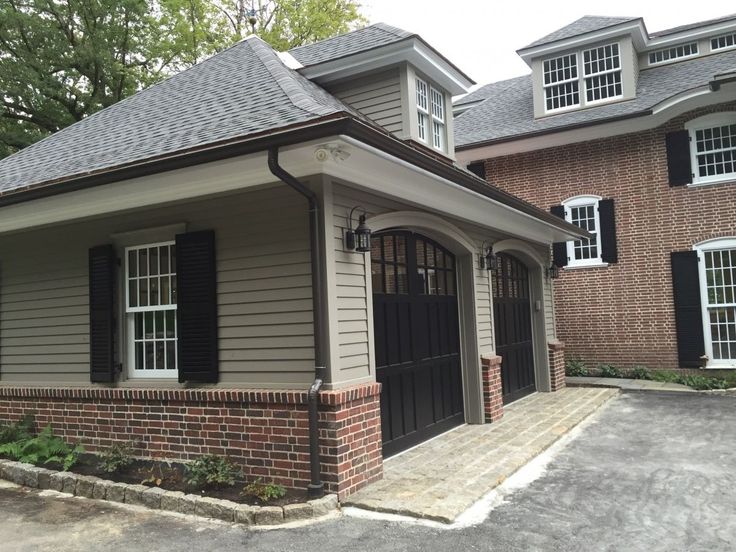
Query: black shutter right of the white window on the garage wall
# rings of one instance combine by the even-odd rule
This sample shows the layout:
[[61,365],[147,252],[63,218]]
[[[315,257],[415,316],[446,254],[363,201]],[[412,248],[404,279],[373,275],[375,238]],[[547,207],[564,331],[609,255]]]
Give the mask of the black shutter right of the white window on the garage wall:
[[219,373],[214,232],[176,236],[176,281],[179,381],[216,383]]

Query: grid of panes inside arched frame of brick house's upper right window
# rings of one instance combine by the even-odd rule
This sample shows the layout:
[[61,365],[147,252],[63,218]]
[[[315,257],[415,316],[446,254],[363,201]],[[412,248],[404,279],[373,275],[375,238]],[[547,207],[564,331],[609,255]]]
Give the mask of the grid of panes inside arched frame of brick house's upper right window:
[[736,123],[694,129],[696,180],[736,174]]

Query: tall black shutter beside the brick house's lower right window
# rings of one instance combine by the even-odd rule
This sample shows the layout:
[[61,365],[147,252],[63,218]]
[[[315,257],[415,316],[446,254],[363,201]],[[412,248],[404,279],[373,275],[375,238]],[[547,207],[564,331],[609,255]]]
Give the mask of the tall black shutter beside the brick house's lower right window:
[[681,367],[698,368],[701,366],[700,357],[705,354],[698,253],[674,251],[671,260],[677,356]]

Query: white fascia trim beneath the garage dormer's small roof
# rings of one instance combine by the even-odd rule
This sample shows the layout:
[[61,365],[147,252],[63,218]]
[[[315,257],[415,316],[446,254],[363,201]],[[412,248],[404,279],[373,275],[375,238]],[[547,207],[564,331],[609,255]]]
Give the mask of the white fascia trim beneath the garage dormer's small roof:
[[464,94],[474,84],[417,38],[304,67],[300,73],[323,84],[403,62],[414,65],[452,95]]

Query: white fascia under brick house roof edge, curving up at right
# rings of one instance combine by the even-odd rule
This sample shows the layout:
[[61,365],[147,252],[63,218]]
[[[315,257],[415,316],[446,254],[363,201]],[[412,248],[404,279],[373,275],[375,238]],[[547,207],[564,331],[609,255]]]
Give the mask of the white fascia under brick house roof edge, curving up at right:
[[518,140],[499,142],[497,144],[488,144],[473,149],[456,151],[455,157],[459,164],[467,166],[473,161],[480,161],[483,159],[503,157],[516,153],[554,148],[567,144],[598,140],[600,138],[607,138],[610,136],[641,132],[643,130],[655,128],[666,123],[673,117],[682,115],[692,109],[733,101],[735,93],[736,83],[724,84],[721,86],[720,90],[716,92],[710,90],[708,85],[703,85],[660,102],[652,108],[652,115],[635,117],[612,123],[590,124],[585,127],[560,130],[559,132],[551,132],[540,136],[519,138]]

